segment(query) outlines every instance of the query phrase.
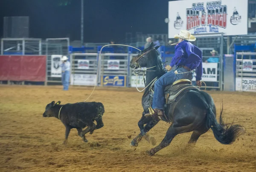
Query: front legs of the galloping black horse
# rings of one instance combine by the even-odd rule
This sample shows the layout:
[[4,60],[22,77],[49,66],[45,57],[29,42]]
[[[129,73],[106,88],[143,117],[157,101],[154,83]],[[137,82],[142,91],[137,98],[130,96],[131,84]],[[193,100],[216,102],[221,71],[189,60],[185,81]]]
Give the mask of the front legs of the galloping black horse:
[[[141,141],[141,139],[143,138],[143,136],[145,136],[146,133],[147,133],[149,130],[151,130],[151,128],[153,128],[153,127],[158,123],[158,121],[155,121],[151,116],[145,117],[144,115],[145,115],[145,112],[143,112],[142,117],[140,118],[140,121],[138,122],[138,126],[139,126],[139,128],[140,128],[140,134],[137,135],[137,136],[131,141],[130,146],[137,147],[137,146],[138,146],[138,142]],[[144,127],[144,124],[146,124],[145,127]],[[148,138],[148,137],[147,137],[147,138]],[[148,139],[147,139],[147,138],[146,138],[146,140],[149,141],[149,142],[150,142],[150,140],[152,140],[152,139],[150,139],[150,138],[148,138]],[[152,142],[152,144],[154,144],[154,143]]]

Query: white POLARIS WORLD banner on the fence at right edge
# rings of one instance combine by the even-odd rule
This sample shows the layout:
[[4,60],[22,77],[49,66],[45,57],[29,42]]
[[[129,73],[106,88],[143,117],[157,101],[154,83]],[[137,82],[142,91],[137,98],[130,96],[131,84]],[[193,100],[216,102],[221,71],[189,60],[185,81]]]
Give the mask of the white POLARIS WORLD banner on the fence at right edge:
[[236,91],[256,92],[256,78],[236,78]]

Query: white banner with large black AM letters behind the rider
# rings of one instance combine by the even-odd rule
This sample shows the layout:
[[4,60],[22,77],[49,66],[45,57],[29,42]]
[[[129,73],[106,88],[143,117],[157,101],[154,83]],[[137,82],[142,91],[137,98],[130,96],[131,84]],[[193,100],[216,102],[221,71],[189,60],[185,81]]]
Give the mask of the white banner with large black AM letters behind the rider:
[[[196,73],[194,72],[194,75]],[[204,63],[203,62],[203,76],[202,81],[207,82],[217,82],[218,75],[218,63]],[[195,77],[193,77],[192,81],[195,81]]]

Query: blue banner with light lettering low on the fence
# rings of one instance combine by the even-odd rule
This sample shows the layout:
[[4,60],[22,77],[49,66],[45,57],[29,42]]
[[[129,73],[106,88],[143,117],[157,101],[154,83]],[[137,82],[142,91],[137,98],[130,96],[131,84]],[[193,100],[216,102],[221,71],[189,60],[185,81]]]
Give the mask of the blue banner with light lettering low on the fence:
[[104,75],[101,85],[126,87],[126,76]]

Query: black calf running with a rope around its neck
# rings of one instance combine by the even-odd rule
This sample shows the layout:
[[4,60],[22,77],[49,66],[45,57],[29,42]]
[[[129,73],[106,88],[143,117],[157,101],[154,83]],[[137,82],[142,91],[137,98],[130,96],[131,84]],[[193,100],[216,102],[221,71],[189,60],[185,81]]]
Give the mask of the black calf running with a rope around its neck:
[[[100,102],[79,102],[74,104],[61,104],[54,101],[47,104],[45,107],[44,117],[55,117],[61,120],[66,127],[66,135],[63,144],[67,144],[67,137],[72,128],[76,128],[78,135],[83,138],[85,142],[85,134],[104,126],[102,116],[104,113],[104,106]],[[93,123],[97,122],[97,125]],[[83,130],[84,127],[87,127]]]

